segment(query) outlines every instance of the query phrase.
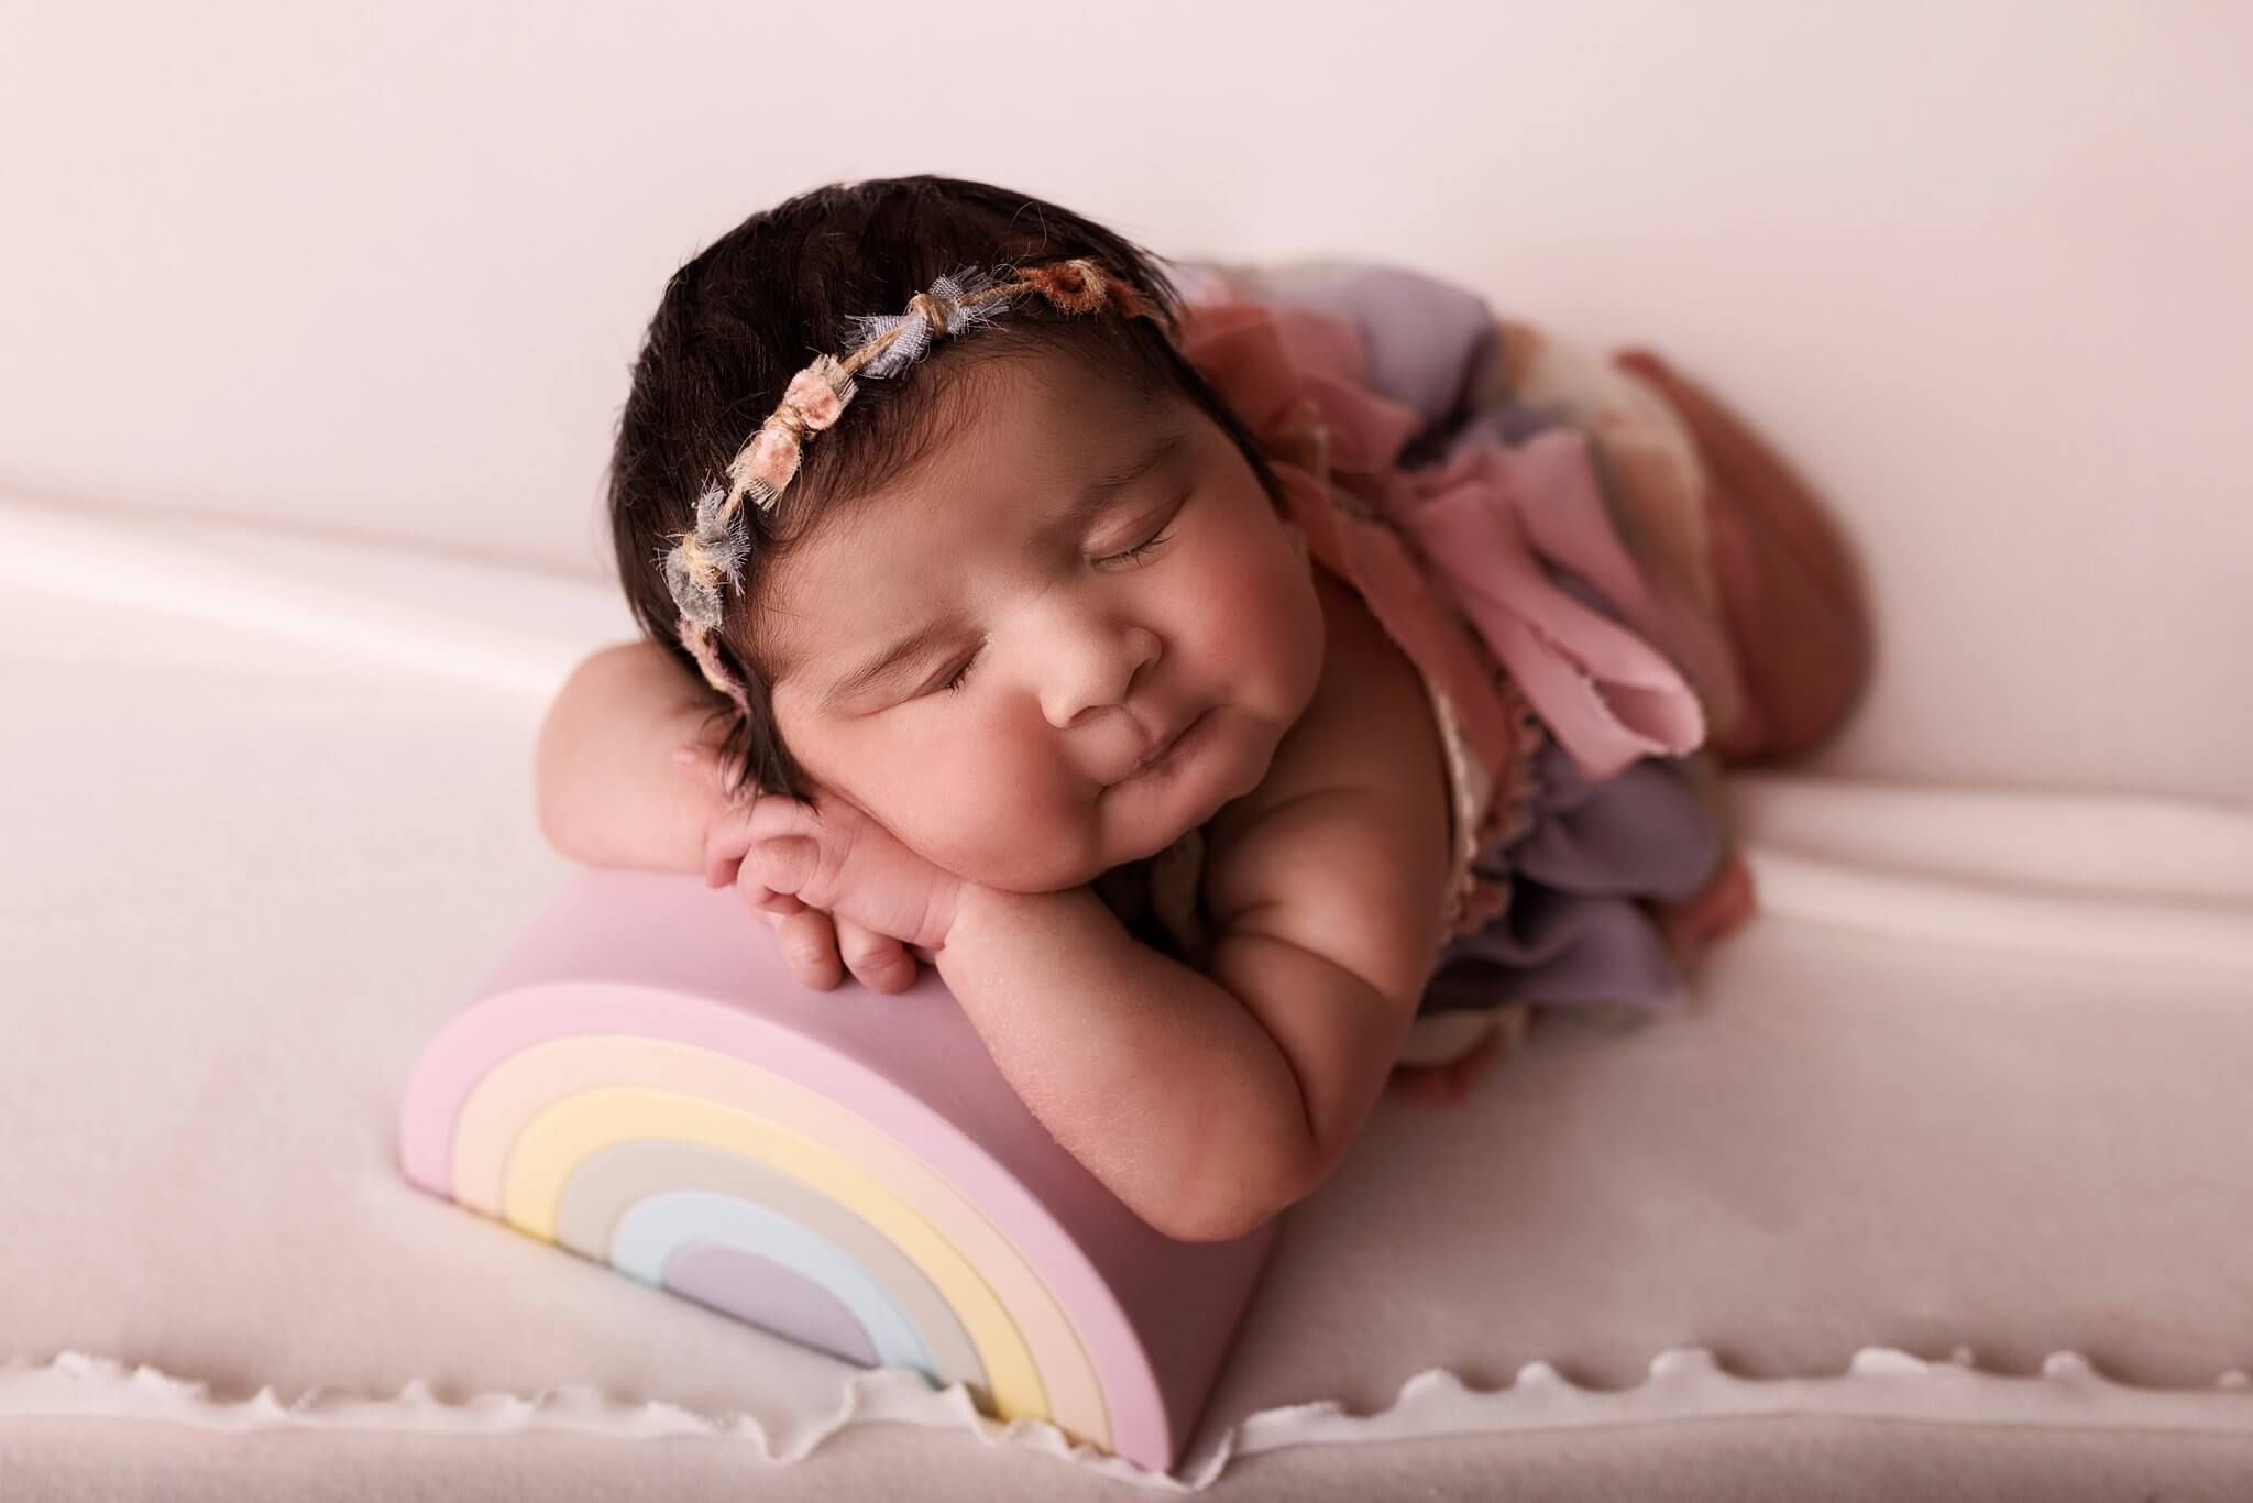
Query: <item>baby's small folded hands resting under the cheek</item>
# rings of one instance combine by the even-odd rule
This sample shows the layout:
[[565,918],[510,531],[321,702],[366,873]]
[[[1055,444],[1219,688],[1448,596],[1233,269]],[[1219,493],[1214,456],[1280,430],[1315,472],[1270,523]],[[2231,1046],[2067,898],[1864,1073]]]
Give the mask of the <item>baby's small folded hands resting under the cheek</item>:
[[[710,746],[692,741],[676,759],[721,784]],[[836,987],[843,971],[872,991],[912,987],[917,960],[933,962],[944,944],[960,888],[861,809],[834,798],[807,809],[775,795],[728,804],[712,820],[705,881],[732,883],[775,931],[791,973],[816,991]]]

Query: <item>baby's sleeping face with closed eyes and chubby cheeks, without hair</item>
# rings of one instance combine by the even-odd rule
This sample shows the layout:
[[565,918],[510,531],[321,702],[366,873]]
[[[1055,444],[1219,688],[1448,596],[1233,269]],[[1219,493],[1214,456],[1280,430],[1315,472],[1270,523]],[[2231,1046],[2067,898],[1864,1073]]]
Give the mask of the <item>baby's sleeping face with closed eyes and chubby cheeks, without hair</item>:
[[1052,892],[1259,786],[1320,678],[1323,611],[1185,399],[1054,352],[967,379],[964,421],[771,575],[773,705],[807,773],[926,861]]

